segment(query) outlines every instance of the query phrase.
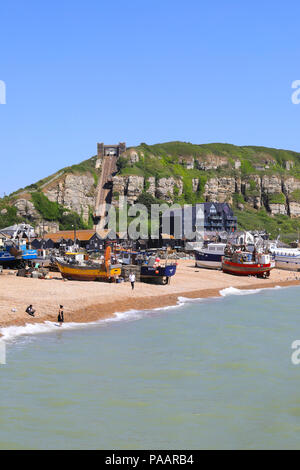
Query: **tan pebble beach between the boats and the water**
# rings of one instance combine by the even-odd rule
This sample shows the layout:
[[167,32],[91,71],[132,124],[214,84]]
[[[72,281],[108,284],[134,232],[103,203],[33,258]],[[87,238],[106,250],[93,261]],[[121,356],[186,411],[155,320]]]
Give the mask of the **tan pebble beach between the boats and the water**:
[[[65,281],[59,273],[48,280],[16,277],[4,271],[0,276],[0,327],[56,321],[59,305],[66,322],[90,322],[112,317],[116,312],[176,305],[179,297],[217,297],[220,290],[261,289],[300,284],[300,274],[274,269],[269,279],[239,277],[222,271],[195,268],[193,260],[180,260],[169,285]],[[25,313],[29,304],[35,317]]]

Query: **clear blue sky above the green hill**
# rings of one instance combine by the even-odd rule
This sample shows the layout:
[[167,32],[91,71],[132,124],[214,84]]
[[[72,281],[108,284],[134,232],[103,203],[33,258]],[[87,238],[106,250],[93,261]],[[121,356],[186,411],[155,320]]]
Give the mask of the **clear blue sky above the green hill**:
[[14,0],[0,7],[0,196],[97,142],[300,151],[300,4]]

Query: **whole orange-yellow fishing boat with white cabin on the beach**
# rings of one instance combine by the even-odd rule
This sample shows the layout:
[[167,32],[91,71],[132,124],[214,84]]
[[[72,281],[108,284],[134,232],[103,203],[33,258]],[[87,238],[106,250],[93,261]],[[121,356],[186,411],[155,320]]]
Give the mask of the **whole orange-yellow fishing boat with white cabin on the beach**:
[[84,259],[82,253],[66,253],[64,258],[56,258],[61,275],[73,281],[115,281],[121,274],[121,266],[111,263],[111,248],[105,250],[103,263],[93,263]]

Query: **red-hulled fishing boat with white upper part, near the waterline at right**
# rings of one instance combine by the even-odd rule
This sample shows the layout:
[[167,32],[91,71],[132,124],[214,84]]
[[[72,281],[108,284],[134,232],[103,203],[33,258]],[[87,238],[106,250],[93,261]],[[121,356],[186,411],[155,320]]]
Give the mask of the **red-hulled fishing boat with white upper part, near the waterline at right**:
[[222,270],[224,273],[236,274],[238,276],[269,277],[271,270],[275,268],[275,261],[268,253],[256,253],[236,250],[229,252],[225,250],[222,259]]

